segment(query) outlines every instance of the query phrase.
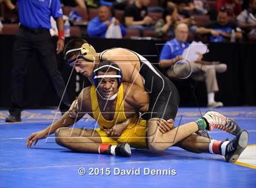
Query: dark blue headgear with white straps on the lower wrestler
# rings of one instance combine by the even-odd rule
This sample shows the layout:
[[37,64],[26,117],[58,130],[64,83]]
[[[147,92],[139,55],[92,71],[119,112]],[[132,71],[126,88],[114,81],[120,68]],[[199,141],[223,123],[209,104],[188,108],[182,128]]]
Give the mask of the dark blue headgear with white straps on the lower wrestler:
[[[98,72],[101,71],[101,69],[107,67],[108,69],[112,68],[112,69],[115,69],[116,72],[117,72],[117,75],[98,75]],[[98,82],[98,79],[99,78],[116,78],[117,79],[117,82],[118,82],[118,88],[121,86],[122,82],[123,82],[123,74],[122,74],[122,71],[121,69],[119,69],[118,67],[114,67],[113,65],[109,64],[109,65],[103,65],[98,68],[98,69],[95,69],[93,71],[93,84],[95,86],[98,86],[99,82]]]

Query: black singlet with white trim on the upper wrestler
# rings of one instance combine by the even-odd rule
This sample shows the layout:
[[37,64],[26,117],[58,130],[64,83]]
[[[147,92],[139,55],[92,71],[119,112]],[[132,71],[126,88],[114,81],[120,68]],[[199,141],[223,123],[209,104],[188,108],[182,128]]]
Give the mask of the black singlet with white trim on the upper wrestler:
[[176,86],[149,62],[141,61],[140,74],[145,80],[145,90],[149,92],[149,110],[142,118],[175,119],[180,102]]

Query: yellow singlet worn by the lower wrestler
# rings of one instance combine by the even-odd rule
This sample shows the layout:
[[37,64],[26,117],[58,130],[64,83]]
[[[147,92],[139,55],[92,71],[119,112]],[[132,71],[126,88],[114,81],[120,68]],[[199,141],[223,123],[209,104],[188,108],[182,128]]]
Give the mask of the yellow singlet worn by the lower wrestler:
[[130,143],[130,146],[136,148],[148,148],[146,144],[146,120],[138,118],[135,114],[131,123],[119,137],[108,137],[103,129],[110,129],[117,123],[126,121],[126,114],[124,113],[124,92],[123,84],[119,87],[118,96],[116,99],[115,115],[112,121],[106,120],[99,109],[98,98],[96,94],[96,87],[91,86],[91,110],[93,111],[93,118],[99,124],[99,129],[96,131],[101,136],[102,143],[110,143],[117,145],[119,143]]

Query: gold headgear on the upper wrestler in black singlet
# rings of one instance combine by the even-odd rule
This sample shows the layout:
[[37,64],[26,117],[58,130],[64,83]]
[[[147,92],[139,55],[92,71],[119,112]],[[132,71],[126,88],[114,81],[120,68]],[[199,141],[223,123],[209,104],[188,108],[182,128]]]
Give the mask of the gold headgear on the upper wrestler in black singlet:
[[[80,51],[80,55],[78,55],[74,59],[68,60],[67,55],[71,52],[76,52],[76,51]],[[79,58],[84,58],[85,60],[91,61],[94,64],[95,56],[97,56],[97,53],[96,53],[96,50],[94,49],[94,47],[88,43],[84,43],[84,44],[82,44],[82,46],[80,48],[68,50],[65,53],[64,59],[68,65],[71,64],[72,62],[76,61],[76,59],[79,59]]]

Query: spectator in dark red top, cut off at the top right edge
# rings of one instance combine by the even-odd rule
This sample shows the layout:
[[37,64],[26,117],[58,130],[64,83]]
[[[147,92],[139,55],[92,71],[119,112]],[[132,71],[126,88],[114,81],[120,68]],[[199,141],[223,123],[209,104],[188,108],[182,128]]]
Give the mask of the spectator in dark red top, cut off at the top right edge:
[[221,10],[222,7],[227,8],[229,15],[232,17],[239,15],[242,10],[241,4],[238,0],[217,0],[217,11]]

